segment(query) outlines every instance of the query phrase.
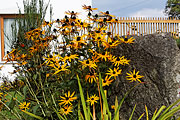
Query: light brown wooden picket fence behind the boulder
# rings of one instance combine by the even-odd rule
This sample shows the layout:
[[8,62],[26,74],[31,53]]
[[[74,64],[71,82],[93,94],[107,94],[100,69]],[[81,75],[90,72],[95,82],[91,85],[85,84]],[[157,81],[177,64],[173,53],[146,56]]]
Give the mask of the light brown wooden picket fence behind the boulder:
[[168,32],[179,38],[179,23],[176,18],[164,17],[118,17],[117,23],[109,26],[112,33],[123,35],[146,35],[153,33]]

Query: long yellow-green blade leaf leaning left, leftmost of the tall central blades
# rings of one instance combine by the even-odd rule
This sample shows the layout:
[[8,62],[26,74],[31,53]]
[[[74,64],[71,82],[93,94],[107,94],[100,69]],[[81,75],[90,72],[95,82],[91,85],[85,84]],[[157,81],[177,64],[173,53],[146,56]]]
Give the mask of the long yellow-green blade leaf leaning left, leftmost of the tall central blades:
[[83,94],[82,86],[81,86],[80,79],[79,79],[78,75],[77,75],[77,79],[78,79],[79,92],[80,92],[80,97],[81,97],[81,102],[82,102],[82,106],[83,106],[85,119],[88,120],[86,102],[85,102],[85,99],[84,99],[84,94]]

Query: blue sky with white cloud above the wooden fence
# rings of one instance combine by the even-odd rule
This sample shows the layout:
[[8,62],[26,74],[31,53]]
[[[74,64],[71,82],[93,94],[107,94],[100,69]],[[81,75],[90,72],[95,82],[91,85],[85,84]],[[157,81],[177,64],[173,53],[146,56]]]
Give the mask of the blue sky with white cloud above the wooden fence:
[[117,17],[163,17],[167,0],[92,0],[99,11],[110,11]]

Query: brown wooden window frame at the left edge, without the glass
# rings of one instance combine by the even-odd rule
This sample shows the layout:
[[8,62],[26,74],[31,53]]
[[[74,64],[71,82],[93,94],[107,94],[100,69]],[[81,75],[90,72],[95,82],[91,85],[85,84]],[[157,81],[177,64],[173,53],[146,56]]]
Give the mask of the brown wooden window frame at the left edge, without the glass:
[[1,61],[6,61],[4,59],[5,45],[4,45],[4,19],[16,19],[19,14],[0,14],[0,34],[1,34]]

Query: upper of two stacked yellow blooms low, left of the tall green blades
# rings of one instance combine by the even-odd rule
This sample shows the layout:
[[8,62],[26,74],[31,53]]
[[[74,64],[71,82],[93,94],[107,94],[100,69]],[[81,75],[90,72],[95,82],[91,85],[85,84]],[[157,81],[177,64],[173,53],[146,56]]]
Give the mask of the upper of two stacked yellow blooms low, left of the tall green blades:
[[65,93],[65,97],[60,96],[60,98],[61,98],[62,100],[59,100],[59,101],[61,101],[61,102],[59,103],[59,105],[62,105],[62,104],[64,104],[64,105],[71,104],[71,102],[73,102],[74,100],[77,99],[77,97],[73,97],[74,94],[75,94],[75,92],[73,92],[72,94],[70,94],[70,91],[68,91],[68,93]]

